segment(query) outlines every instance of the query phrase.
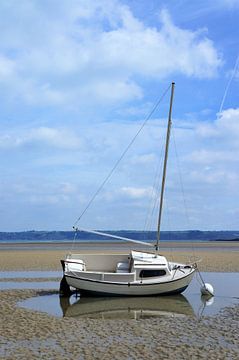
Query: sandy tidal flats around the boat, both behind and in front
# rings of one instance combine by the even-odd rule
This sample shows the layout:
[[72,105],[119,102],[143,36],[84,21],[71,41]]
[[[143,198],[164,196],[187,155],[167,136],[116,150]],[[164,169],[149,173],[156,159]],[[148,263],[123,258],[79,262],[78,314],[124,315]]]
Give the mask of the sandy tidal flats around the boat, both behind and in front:
[[[201,271],[239,272],[238,243],[174,247],[172,253],[167,245],[162,246],[162,253],[174,259],[202,258]],[[76,250],[83,251],[80,246]],[[89,246],[87,252],[95,250]],[[60,270],[59,260],[65,254],[65,249],[52,244],[27,248],[22,244],[17,249],[1,245],[0,270]],[[200,319],[169,316],[139,320],[54,317],[17,306],[20,300],[44,292],[40,282],[39,290],[0,291],[1,359],[239,358],[239,305]]]

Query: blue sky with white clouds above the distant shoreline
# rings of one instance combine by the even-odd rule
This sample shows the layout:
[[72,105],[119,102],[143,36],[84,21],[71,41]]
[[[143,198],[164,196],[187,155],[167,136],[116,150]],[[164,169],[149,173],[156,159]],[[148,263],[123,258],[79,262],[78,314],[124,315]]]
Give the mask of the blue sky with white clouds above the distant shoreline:
[[[238,0],[1,1],[0,231],[71,229],[172,81],[162,228],[238,229],[238,18]],[[155,228],[168,104],[80,226]]]

